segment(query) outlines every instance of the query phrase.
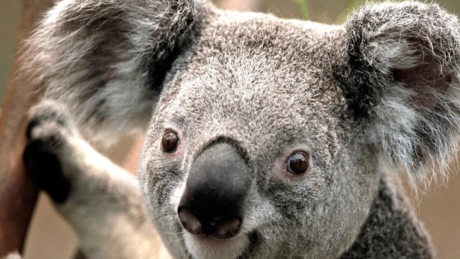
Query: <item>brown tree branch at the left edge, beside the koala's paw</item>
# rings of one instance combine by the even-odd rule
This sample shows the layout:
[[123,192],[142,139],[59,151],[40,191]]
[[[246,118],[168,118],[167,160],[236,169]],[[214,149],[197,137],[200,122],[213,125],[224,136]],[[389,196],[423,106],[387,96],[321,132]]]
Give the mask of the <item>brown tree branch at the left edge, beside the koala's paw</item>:
[[[23,0],[21,42],[52,0]],[[18,48],[19,49],[19,48]],[[18,74],[16,57],[0,117],[0,256],[23,250],[38,188],[30,181],[22,162],[25,146],[25,114],[33,103],[30,84]]]

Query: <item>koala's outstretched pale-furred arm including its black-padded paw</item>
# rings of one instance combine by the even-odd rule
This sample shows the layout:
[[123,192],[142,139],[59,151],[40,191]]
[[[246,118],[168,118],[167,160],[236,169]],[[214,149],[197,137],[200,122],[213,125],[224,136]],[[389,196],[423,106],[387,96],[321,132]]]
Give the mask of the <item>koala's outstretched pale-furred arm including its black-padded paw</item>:
[[30,115],[24,160],[73,226],[88,258],[160,258],[137,179],[93,149],[57,103]]

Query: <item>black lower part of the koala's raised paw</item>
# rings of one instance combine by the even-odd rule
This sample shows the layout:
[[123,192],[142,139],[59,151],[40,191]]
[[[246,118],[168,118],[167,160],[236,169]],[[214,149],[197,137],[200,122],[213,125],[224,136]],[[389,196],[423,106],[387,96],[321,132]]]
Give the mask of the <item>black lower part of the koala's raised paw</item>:
[[54,202],[66,202],[70,194],[70,181],[62,174],[59,158],[47,150],[45,142],[39,139],[29,142],[25,147],[23,161],[31,178]]

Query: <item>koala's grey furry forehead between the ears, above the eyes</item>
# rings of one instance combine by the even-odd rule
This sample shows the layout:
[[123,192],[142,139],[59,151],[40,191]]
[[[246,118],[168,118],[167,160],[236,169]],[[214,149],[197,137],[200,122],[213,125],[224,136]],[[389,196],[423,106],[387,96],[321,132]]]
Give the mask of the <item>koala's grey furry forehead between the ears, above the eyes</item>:
[[188,134],[270,146],[327,137],[345,105],[333,78],[343,28],[253,13],[218,17],[176,62],[159,120],[195,127]]

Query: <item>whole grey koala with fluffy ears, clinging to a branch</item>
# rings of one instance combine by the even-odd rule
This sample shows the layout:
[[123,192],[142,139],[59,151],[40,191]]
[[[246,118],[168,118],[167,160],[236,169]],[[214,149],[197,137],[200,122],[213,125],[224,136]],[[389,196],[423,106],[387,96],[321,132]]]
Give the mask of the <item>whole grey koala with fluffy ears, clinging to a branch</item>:
[[[456,154],[459,24],[437,4],[324,25],[62,0],[24,59],[25,165],[88,258],[435,257],[394,175],[417,190]],[[138,178],[93,148],[137,133]]]

